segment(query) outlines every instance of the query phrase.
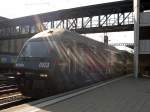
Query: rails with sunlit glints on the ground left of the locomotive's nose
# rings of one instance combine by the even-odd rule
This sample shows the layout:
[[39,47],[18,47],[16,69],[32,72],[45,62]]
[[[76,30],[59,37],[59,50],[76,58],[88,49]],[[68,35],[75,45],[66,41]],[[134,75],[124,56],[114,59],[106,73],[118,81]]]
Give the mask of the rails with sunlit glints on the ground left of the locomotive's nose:
[[27,99],[19,92],[15,79],[12,77],[11,74],[0,74],[0,110],[21,104]]

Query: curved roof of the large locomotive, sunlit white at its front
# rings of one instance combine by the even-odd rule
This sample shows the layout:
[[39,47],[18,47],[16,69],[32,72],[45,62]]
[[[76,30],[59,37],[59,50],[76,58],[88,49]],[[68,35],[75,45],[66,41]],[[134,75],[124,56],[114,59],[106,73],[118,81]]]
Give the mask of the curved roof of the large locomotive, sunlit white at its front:
[[113,51],[118,51],[115,47],[105,45],[102,42],[98,42],[96,40],[93,40],[91,38],[82,36],[76,32],[71,32],[69,30],[65,29],[50,29],[50,30],[45,30],[43,32],[40,32],[33,37],[31,37],[28,41],[36,41],[36,40],[46,40],[49,39],[51,41],[56,40],[56,41],[68,41],[70,43],[71,41],[75,41],[77,43],[85,43],[86,45],[89,46],[99,46],[105,49],[113,50]]

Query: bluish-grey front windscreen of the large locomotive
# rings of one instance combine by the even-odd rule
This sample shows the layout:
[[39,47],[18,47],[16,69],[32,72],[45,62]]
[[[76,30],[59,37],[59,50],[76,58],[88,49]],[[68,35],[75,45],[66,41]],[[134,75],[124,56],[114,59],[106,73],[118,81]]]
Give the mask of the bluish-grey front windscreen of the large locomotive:
[[47,41],[29,41],[20,53],[20,57],[50,57],[52,47]]

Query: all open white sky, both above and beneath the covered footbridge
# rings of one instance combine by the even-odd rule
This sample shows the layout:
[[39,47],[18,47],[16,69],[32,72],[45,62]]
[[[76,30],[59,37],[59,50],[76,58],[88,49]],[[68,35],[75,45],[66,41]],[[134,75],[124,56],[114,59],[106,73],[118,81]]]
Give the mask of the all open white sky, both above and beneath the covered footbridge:
[[[120,0],[1,0],[0,16],[18,18],[44,12]],[[133,43],[133,32],[107,33],[109,43]],[[103,41],[104,34],[86,35]]]

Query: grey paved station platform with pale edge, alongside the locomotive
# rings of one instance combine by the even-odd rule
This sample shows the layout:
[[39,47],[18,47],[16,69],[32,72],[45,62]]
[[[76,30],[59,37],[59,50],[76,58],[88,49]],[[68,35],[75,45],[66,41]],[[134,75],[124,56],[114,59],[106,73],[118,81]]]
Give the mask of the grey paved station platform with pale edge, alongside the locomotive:
[[2,112],[150,112],[150,78],[127,76],[81,91]]

